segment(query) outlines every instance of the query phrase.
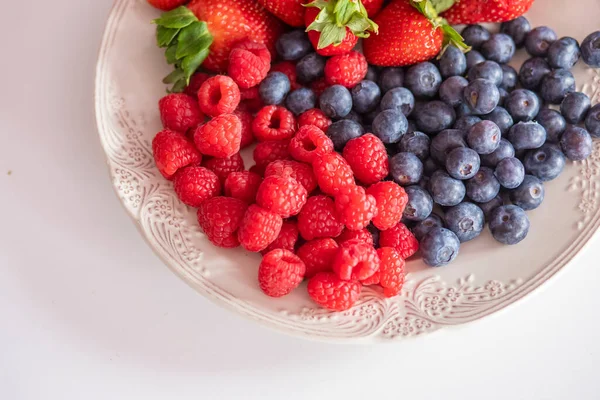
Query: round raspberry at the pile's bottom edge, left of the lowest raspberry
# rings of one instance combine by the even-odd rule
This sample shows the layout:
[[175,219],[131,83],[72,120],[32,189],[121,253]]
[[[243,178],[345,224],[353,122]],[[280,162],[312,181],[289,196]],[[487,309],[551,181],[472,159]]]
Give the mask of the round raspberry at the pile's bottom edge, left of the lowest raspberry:
[[285,296],[300,285],[305,271],[302,260],[291,251],[271,250],[258,267],[260,290],[271,297]]

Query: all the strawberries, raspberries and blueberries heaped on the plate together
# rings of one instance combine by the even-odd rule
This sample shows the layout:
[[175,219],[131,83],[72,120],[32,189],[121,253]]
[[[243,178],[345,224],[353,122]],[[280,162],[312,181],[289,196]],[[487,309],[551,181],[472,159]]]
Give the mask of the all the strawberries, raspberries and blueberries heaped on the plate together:
[[307,280],[331,310],[398,295],[406,259],[447,265],[486,224],[517,244],[600,137],[569,71],[600,67],[600,32],[532,29],[532,1],[149,0],[174,66],[156,166],[215,246],[262,254],[266,295]]

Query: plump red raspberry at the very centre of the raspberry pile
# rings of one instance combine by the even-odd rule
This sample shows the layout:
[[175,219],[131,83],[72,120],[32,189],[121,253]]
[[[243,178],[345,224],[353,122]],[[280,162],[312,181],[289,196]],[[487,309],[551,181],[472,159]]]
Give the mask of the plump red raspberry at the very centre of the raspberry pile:
[[297,215],[306,204],[306,189],[290,176],[265,177],[256,193],[256,204],[283,218]]

